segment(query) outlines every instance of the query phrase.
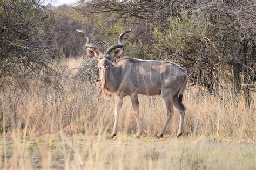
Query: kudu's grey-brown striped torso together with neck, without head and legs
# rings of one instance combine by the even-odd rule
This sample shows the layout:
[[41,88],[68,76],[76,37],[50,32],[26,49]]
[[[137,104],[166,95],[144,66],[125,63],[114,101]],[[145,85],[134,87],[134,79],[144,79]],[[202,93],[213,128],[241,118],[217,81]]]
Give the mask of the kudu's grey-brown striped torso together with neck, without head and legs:
[[[183,69],[164,61],[124,58],[115,65],[111,64],[106,74],[103,73],[105,70],[99,69],[104,91],[107,91],[107,94],[160,95],[162,90],[171,90],[173,96],[178,96],[179,91],[186,85],[184,82],[187,81]],[[180,86],[177,86],[178,84]],[[180,94],[183,94],[183,91],[180,91]]]

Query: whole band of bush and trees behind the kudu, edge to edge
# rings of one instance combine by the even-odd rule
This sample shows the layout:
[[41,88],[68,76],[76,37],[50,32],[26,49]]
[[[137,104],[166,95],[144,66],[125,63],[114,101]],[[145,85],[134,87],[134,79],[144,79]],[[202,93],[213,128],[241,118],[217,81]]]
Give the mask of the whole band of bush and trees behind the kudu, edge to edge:
[[2,1],[0,15],[2,84],[53,69],[52,59],[83,55],[85,39],[76,29],[107,48],[131,28],[125,55],[178,62],[191,85],[213,94],[232,88],[250,100],[254,90],[253,2],[90,1],[54,8]]

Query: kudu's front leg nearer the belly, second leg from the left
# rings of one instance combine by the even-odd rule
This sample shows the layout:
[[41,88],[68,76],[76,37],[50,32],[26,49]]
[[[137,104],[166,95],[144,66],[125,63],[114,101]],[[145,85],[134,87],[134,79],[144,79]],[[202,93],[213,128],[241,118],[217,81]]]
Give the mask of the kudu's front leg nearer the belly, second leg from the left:
[[138,95],[131,95],[131,102],[132,102],[132,108],[133,108],[133,114],[136,119],[136,124],[137,124],[137,134],[136,138],[140,137],[140,134],[142,133],[140,129],[140,118],[139,118],[139,100],[138,100]]

